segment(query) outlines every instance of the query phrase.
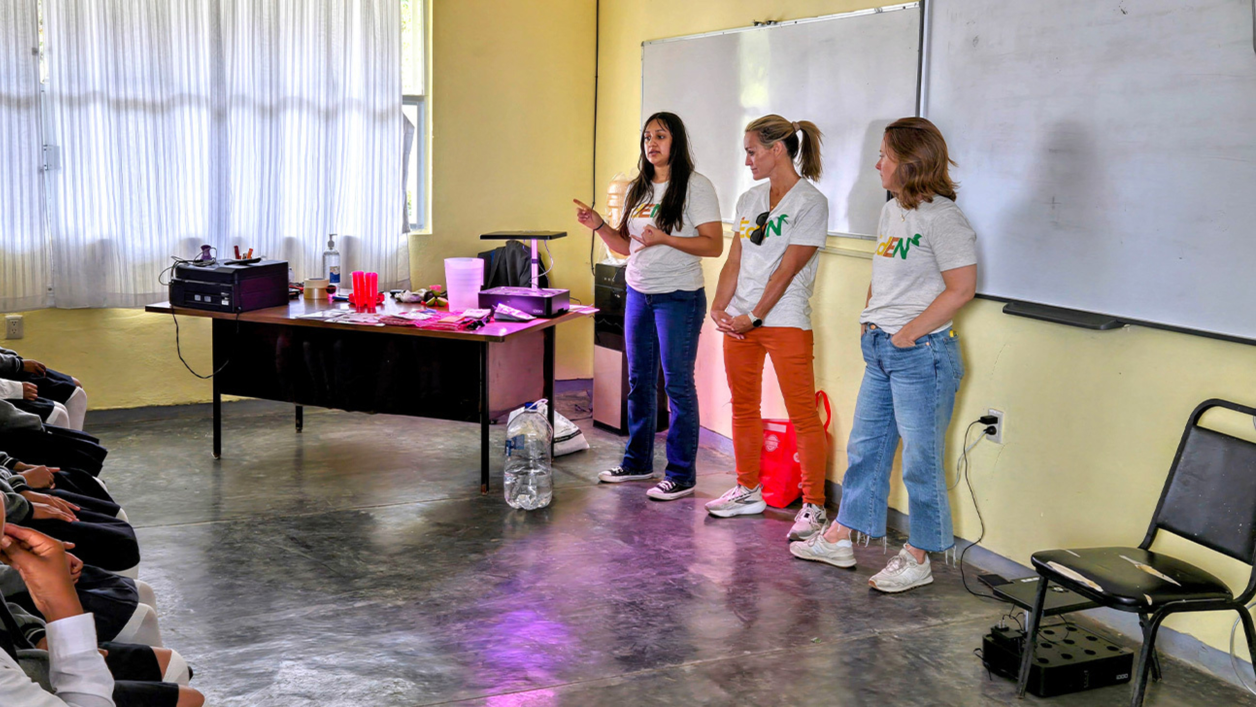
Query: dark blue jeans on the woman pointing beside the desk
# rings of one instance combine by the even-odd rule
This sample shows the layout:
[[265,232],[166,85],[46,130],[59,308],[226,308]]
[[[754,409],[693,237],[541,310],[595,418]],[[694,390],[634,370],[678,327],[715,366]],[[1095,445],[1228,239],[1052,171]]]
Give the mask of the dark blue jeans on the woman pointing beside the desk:
[[628,288],[624,340],[628,348],[628,447],[623,467],[638,473],[654,468],[658,414],[658,360],[671,403],[667,428],[667,477],[682,485],[697,481],[698,388],[693,363],[706,318],[706,290],[643,295]]

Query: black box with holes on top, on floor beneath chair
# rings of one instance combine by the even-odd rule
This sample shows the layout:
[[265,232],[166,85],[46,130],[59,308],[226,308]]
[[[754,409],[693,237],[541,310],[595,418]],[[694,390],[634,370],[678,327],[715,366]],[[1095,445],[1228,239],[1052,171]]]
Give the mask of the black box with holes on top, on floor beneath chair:
[[[1024,644],[1024,630],[992,627],[981,639],[982,663],[990,672],[1015,681]],[[1039,697],[1055,697],[1120,684],[1129,682],[1133,669],[1133,650],[1084,628],[1056,624],[1037,633],[1029,691]]]

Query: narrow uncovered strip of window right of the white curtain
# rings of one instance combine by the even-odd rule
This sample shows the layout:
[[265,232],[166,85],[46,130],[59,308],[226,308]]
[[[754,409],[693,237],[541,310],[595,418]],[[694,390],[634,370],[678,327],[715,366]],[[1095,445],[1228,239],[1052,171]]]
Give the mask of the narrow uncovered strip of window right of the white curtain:
[[406,222],[411,231],[427,226],[427,104],[425,1],[401,0],[401,93],[406,116]]

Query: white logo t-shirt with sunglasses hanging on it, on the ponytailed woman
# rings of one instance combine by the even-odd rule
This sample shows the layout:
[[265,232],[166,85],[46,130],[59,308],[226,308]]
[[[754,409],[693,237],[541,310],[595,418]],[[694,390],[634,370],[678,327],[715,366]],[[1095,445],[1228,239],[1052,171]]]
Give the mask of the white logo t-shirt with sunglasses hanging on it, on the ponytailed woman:
[[[732,316],[750,314],[764,296],[767,279],[781,264],[785,249],[791,245],[824,247],[829,236],[829,200],[820,190],[799,180],[781,197],[767,216],[764,240],[750,242],[750,234],[757,227],[760,213],[769,211],[770,182],[764,182],[741,195],[734,227],[741,239],[741,270],[737,271],[737,290],[728,303]],[[815,251],[806,265],[794,275],[785,294],[764,318],[764,327],[811,328],[811,286],[820,266],[820,251]]]

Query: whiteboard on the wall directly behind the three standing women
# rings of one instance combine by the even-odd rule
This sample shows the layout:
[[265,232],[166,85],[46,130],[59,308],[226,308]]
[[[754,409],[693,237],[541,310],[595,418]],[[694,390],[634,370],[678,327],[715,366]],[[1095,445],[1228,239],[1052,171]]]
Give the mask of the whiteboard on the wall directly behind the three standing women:
[[829,231],[875,236],[885,191],[873,166],[885,126],[916,114],[921,9],[916,3],[647,41],[642,119],[658,111],[686,124],[697,171],[732,220],[754,185],[744,165],[746,123],[769,113],[824,133]]

